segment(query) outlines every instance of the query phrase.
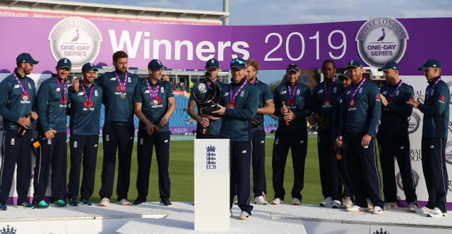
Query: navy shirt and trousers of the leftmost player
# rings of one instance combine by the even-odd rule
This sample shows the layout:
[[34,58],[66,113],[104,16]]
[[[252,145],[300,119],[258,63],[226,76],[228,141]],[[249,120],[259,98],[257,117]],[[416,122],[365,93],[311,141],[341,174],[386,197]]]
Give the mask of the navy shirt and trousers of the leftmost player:
[[[23,99],[23,90],[18,86],[16,78],[28,93],[27,100]],[[14,170],[17,165],[16,190],[18,204],[28,201],[28,190],[31,179],[31,145],[32,129],[35,126],[31,122],[25,135],[18,136],[17,123],[20,117],[25,117],[34,109],[36,101],[35,82],[28,76],[20,77],[17,71],[6,76],[0,83],[0,114],[3,116],[4,133],[1,142],[1,168],[0,168],[0,202],[6,202],[13,183]],[[26,85],[25,85],[26,84]]]

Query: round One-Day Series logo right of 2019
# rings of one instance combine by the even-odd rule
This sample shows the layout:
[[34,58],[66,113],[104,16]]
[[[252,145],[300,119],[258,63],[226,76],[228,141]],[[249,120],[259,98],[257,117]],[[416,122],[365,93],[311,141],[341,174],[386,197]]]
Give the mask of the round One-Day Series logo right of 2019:
[[399,62],[409,39],[405,27],[395,18],[371,18],[359,28],[356,42],[359,57],[371,66]]

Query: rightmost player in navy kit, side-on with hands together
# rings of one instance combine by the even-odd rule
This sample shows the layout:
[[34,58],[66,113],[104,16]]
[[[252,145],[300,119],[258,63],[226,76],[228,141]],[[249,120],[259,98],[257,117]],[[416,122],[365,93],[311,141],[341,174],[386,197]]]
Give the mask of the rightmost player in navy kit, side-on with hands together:
[[424,104],[410,99],[408,104],[424,114],[422,119],[422,172],[429,192],[429,201],[417,213],[429,217],[446,216],[446,195],[448,175],[446,168],[446,141],[449,121],[450,92],[447,84],[441,80],[441,63],[428,59],[419,67],[427,78]]

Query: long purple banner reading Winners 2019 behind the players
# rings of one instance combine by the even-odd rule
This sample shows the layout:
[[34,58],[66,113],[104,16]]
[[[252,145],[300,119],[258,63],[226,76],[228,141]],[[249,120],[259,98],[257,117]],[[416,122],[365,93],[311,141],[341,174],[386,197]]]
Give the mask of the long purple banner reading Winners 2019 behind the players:
[[[304,69],[321,67],[333,59],[343,67],[350,59],[379,67],[399,62],[401,74],[419,75],[428,58],[452,74],[446,30],[452,18],[373,18],[369,21],[266,26],[163,25],[84,18],[1,18],[0,72],[12,71],[16,57],[29,52],[40,61],[33,73],[54,71],[67,57],[73,69],[85,62],[112,66],[112,54],[124,50],[129,67],[146,68],[160,59],[169,69],[201,69],[215,57],[223,70],[231,59],[257,59],[261,69],[285,69],[291,62]],[[425,28],[430,32],[425,33]]]

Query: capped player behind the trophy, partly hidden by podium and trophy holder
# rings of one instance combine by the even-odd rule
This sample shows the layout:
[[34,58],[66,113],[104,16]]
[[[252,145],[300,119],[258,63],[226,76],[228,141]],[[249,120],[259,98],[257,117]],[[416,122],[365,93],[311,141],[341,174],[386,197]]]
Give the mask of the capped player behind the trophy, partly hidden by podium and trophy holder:
[[[218,81],[218,72],[220,72],[220,63],[217,59],[209,59],[205,66],[206,71],[210,72],[210,81],[218,83],[220,89],[223,91],[223,86],[225,83]],[[203,93],[207,93],[210,87],[208,84],[208,78],[203,79],[196,86],[191,88],[189,103],[187,107],[187,113],[191,118],[196,119],[198,124],[196,125],[196,138],[197,139],[215,139],[220,135],[221,118],[214,116],[201,116],[201,112],[198,109],[198,113],[195,112],[196,101],[194,99],[195,95],[203,97]],[[205,94],[204,94],[205,95]]]

